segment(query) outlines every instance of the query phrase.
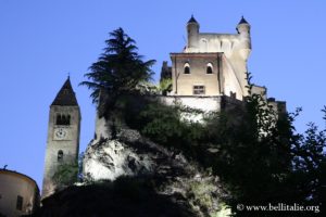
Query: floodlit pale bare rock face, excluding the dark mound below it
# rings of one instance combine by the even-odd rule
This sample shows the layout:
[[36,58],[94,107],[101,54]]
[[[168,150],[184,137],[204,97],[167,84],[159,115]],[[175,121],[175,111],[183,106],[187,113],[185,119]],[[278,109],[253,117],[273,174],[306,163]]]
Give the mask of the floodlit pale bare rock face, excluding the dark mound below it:
[[121,129],[114,139],[93,140],[85,152],[83,170],[87,182],[147,177],[159,194],[191,207],[198,216],[216,215],[226,195],[217,177],[131,129]]

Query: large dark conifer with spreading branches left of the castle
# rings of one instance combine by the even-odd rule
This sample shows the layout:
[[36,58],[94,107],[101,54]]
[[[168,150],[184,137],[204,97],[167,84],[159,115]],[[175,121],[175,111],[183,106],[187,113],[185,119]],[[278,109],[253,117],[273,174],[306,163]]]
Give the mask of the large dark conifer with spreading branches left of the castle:
[[80,82],[92,90],[90,97],[95,103],[103,91],[108,97],[105,107],[112,106],[117,95],[137,91],[139,82],[151,78],[150,67],[155,63],[154,60],[142,61],[135,40],[122,28],[110,33],[110,37],[105,40],[104,52],[89,67],[90,73],[85,74],[89,80]]

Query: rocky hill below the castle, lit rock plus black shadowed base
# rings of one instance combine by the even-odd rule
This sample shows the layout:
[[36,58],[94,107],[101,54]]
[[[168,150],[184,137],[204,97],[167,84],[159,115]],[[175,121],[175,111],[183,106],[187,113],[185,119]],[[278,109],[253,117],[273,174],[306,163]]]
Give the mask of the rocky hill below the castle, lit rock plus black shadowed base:
[[225,216],[218,178],[177,152],[121,129],[84,156],[84,182],[42,201],[35,216]]

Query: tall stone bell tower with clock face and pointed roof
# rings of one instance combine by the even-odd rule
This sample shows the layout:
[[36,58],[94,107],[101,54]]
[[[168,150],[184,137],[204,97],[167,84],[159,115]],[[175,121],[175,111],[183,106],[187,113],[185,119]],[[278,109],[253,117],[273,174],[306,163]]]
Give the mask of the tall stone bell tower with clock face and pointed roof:
[[42,199],[61,187],[53,181],[58,167],[77,163],[80,118],[79,106],[68,77],[50,105]]

